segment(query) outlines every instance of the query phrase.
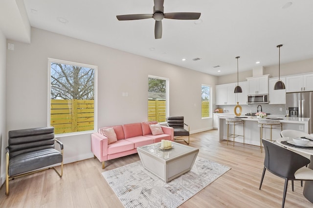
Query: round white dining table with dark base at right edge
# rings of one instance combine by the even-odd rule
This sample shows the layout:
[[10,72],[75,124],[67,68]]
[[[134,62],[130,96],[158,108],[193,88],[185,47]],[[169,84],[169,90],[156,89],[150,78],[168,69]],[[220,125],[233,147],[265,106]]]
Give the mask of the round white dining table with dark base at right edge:
[[[313,137],[309,138],[313,141]],[[289,149],[291,151],[295,151],[303,155],[306,154],[310,156],[311,163],[309,163],[308,168],[313,169],[313,145],[310,142],[310,145],[306,146],[298,146],[294,142],[292,142],[292,137],[281,137],[276,140],[276,142],[282,147]],[[303,187],[303,195],[307,198],[311,203],[313,203],[313,181],[305,181]]]

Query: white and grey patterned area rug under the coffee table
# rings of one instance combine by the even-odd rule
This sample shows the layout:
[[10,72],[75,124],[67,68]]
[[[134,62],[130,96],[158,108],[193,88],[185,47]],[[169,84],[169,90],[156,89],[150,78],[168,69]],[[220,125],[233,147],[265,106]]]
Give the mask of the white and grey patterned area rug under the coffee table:
[[197,157],[192,170],[165,183],[137,161],[102,172],[125,208],[177,208],[230,168]]

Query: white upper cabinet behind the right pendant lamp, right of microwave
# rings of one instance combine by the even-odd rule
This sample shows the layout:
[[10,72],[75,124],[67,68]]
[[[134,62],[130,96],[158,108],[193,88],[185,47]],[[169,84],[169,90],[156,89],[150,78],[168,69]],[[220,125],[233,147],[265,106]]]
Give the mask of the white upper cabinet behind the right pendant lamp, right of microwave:
[[[286,77],[280,77],[280,79],[286,85]],[[277,81],[278,77],[268,79],[269,104],[286,104],[286,89],[274,90],[274,86]]]

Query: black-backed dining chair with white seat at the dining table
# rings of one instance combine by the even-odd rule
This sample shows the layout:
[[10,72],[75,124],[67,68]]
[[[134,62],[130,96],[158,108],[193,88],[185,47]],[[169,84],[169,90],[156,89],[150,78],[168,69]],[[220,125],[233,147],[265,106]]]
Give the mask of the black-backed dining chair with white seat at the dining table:
[[261,189],[266,170],[273,173],[274,175],[277,175],[278,177],[284,178],[285,187],[282,203],[282,208],[284,208],[289,180],[291,180],[292,191],[293,181],[313,180],[313,170],[305,167],[310,163],[310,160],[300,154],[297,154],[296,152],[283,148],[266,139],[262,139],[262,143],[265,149],[265,159],[259,189]]

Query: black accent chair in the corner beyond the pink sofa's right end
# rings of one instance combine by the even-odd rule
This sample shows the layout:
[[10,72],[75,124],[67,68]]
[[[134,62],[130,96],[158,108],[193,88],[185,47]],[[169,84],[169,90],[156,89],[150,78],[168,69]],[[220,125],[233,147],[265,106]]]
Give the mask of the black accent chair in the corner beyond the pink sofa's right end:
[[[174,129],[174,136],[188,136],[188,141],[184,139],[174,139],[174,140],[183,140],[189,145],[189,125],[184,123],[184,116],[169,116],[167,119],[167,126]],[[185,129],[188,128],[187,129]]]

